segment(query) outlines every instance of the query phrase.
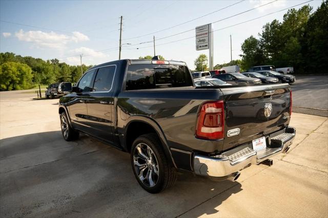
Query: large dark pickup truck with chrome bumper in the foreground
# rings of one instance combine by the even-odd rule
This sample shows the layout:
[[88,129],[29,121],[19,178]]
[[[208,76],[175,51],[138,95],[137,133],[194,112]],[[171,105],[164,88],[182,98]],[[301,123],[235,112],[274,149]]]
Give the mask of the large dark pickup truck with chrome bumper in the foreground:
[[129,152],[136,180],[156,193],[180,170],[234,181],[243,168],[288,150],[291,98],[285,83],[195,87],[185,62],[124,59],[88,69],[60,98],[58,113],[65,140],[82,132]]

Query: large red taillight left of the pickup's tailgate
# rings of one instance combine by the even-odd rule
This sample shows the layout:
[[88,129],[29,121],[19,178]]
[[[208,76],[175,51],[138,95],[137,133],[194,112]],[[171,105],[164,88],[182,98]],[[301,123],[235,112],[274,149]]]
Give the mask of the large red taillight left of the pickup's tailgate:
[[223,139],[223,101],[210,101],[201,105],[197,117],[196,137],[202,139]]

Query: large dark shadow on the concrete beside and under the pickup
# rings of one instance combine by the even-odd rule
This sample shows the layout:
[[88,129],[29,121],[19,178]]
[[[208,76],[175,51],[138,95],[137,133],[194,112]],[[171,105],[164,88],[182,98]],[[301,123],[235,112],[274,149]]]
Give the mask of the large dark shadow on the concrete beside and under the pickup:
[[0,166],[1,217],[172,217],[216,197],[200,216],[242,190],[182,173],[171,189],[150,194],[134,178],[129,154],[84,135],[66,142],[60,131],[0,140]]

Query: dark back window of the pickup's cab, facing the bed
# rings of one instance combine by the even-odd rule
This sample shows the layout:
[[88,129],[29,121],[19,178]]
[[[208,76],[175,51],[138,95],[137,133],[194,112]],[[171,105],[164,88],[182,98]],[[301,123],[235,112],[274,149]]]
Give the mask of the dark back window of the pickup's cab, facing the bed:
[[126,90],[193,86],[186,66],[132,64],[128,68]]

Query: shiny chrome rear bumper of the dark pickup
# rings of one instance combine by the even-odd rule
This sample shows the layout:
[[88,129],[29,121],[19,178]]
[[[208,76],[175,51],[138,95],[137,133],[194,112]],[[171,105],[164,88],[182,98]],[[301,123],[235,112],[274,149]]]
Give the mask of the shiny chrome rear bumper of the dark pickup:
[[267,148],[254,151],[252,142],[240,145],[217,156],[194,156],[194,172],[196,175],[209,177],[228,177],[251,164],[259,164],[280,152],[288,151],[296,134],[294,127],[287,127],[277,133],[266,136]]

